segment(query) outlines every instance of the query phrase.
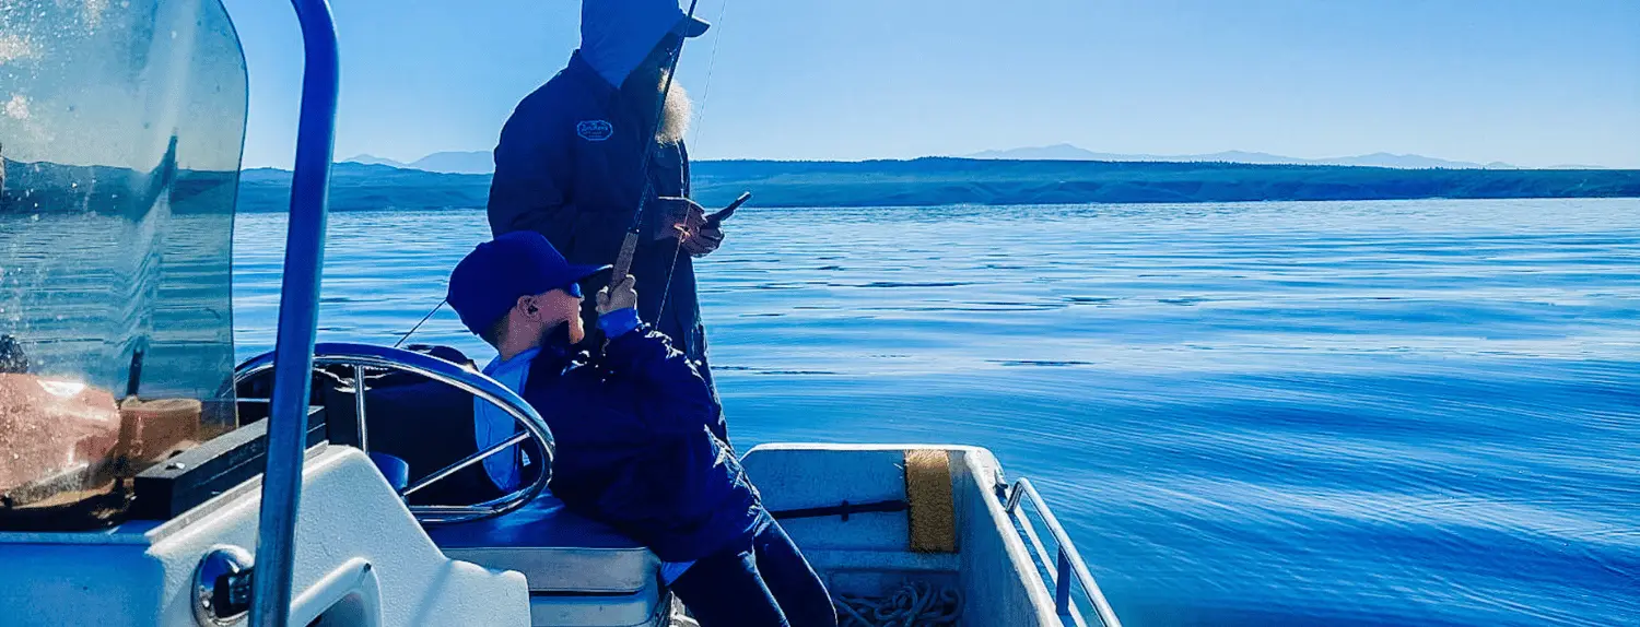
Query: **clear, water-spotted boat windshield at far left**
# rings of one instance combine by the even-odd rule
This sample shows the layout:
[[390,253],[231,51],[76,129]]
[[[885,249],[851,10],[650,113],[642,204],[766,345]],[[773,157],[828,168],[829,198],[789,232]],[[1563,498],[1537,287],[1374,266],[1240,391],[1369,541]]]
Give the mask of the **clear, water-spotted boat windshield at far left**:
[[118,522],[233,429],[244,113],[216,0],[0,10],[0,529]]

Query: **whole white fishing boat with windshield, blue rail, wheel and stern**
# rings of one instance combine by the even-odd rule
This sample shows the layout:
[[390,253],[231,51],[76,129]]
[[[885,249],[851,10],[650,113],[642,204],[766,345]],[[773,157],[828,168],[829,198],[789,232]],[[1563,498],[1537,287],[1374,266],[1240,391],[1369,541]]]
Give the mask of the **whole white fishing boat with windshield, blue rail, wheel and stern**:
[[[518,395],[449,349],[315,342],[338,85],[325,0],[294,0],[277,347],[243,363],[248,97],[226,10],[11,8],[0,625],[689,624],[651,552],[544,496],[549,463],[512,493],[474,488],[485,455],[556,450]],[[472,396],[517,435],[477,450]],[[845,625],[1118,625],[1048,504],[986,449],[764,444],[743,463]]]

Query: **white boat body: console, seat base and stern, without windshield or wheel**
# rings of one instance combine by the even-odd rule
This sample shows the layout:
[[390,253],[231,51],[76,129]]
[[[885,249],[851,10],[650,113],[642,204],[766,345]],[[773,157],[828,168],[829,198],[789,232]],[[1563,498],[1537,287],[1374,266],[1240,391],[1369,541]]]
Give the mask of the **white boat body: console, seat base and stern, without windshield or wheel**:
[[[922,458],[932,453],[936,465],[909,470],[912,452]],[[956,591],[966,625],[1082,624],[1056,611],[1050,583],[1005,509],[1002,468],[989,450],[774,444],[746,453],[745,467],[769,511],[784,512],[782,527],[835,596],[884,598],[922,583]],[[923,476],[912,476],[917,473]],[[543,504],[423,530],[356,449],[317,447],[303,478],[294,624],[672,622],[672,599],[653,553],[561,507]],[[909,488],[930,478],[943,494],[928,498]],[[253,480],[164,524],[0,534],[0,563],[7,565],[0,570],[0,624],[200,624],[194,571],[216,547],[254,548],[259,498]],[[825,512],[843,503],[900,509],[846,517]],[[918,517],[923,522],[913,522]],[[930,521],[933,548],[918,539],[930,535],[918,529]],[[845,607],[845,625],[851,624],[848,614]]]

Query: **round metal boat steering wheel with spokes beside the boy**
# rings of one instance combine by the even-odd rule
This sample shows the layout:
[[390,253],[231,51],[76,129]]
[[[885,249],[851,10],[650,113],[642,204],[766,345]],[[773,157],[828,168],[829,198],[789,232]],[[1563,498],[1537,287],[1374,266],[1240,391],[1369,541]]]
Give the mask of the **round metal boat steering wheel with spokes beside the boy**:
[[[546,421],[541,414],[535,411],[518,393],[508,390],[505,385],[497,383],[489,375],[469,370],[466,367],[441,360],[438,357],[423,355],[403,349],[390,349],[371,344],[349,344],[349,342],[326,342],[313,345],[313,368],[346,365],[353,367],[354,386],[362,386],[366,368],[385,368],[399,370],[412,375],[420,375],[433,381],[444,383],[456,390],[466,391],[476,398],[481,398],[490,404],[495,404],[518,426],[523,429],[512,437],[482,449],[472,455],[464,457],[461,462],[451,463],[440,468],[426,476],[412,481],[410,485],[399,489],[400,498],[408,498],[410,494],[438,483],[451,475],[467,468],[484,458],[495,455],[507,447],[522,445],[526,440],[535,440],[543,453],[541,471],[536,473],[535,481],[522,486],[500,498],[484,501],[469,506],[408,506],[410,514],[415,516],[417,522],[421,524],[444,524],[444,522],[469,522],[487,517],[495,517],[507,514],[513,509],[535,499],[546,489],[548,481],[553,480],[553,457],[554,444],[553,432],[548,429]],[[261,375],[274,368],[274,354],[266,352],[253,357],[241,363],[233,372],[233,385],[249,380],[251,377]],[[359,414],[359,449],[369,452],[369,437],[364,427],[364,393],[362,390],[354,393],[354,409]]]

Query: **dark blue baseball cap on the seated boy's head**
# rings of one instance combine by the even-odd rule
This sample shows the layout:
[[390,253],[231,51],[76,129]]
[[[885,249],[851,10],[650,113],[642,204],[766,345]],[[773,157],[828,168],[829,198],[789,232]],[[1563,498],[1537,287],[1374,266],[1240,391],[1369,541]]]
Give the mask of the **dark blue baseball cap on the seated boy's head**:
[[567,288],[608,265],[574,265],[535,231],[515,231],[479,244],[449,273],[449,306],[467,331],[494,327],[518,296]]

